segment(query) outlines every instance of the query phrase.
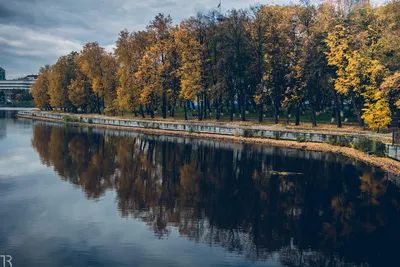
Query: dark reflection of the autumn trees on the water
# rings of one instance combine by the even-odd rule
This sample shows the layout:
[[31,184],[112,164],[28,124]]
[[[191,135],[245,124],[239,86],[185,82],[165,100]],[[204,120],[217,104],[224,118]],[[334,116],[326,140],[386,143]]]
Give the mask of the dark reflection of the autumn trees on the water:
[[[400,194],[378,170],[254,149],[77,133],[36,125],[44,164],[88,198],[117,192],[123,217],[162,238],[171,227],[196,242],[284,266],[393,262]],[[394,243],[396,244],[396,243]]]

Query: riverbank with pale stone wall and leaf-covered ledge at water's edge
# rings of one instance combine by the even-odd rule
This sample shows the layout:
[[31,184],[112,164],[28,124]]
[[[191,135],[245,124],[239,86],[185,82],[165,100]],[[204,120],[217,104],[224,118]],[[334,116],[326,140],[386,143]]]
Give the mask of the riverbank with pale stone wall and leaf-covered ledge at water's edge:
[[[266,126],[245,126],[239,124],[216,124],[206,122],[171,122],[150,120],[123,120],[107,116],[95,115],[72,115],[55,114],[51,112],[21,111],[19,117],[56,121],[71,124],[85,124],[90,127],[118,128],[127,131],[137,131],[146,134],[186,136],[193,138],[204,138],[212,140],[224,140],[236,143],[252,143],[260,145],[273,145],[286,148],[302,149],[308,151],[333,152],[367,162],[381,167],[382,169],[400,175],[400,148],[385,144],[386,153],[391,152],[391,158],[370,155],[353,147],[343,147],[334,144],[344,142],[356,143],[366,137],[374,138],[380,136],[369,136],[367,133],[349,133],[348,131],[338,134],[328,131],[306,130],[290,131],[288,129]],[[334,142],[333,142],[334,141]],[[330,144],[331,143],[331,144]],[[393,157],[393,158],[392,158]],[[398,157],[398,158],[397,158]]]

